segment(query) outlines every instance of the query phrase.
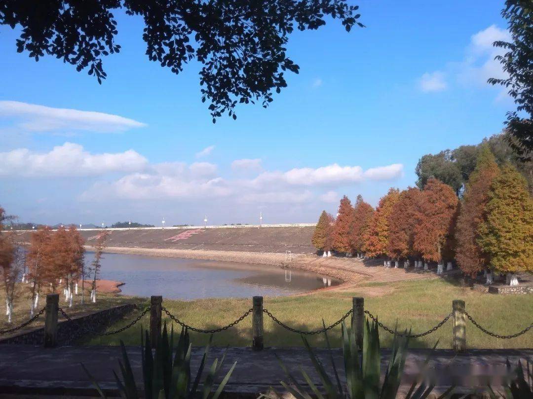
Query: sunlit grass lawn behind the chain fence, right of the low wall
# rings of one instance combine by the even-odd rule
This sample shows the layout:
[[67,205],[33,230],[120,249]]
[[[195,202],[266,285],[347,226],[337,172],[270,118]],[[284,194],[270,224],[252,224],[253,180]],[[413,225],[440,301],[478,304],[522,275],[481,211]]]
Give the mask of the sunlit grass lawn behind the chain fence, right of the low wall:
[[[453,283],[441,280],[417,280],[385,283],[390,292],[382,296],[365,297],[369,286],[354,288],[353,291],[324,291],[312,295],[295,297],[265,298],[264,307],[268,308],[280,321],[300,330],[321,328],[322,317],[326,325],[338,320],[352,306],[353,296],[365,297],[365,309],[379,317],[389,327],[398,323],[400,329],[411,328],[413,333],[423,332],[439,323],[451,312],[451,301],[463,299],[466,311],[489,331],[500,335],[518,332],[533,322],[533,295],[491,295],[482,294],[471,289],[457,287]],[[378,284],[372,284],[377,287]],[[357,291],[359,288],[359,292]],[[148,300],[146,302],[148,304]],[[252,307],[251,299],[201,299],[189,302],[181,300],[164,300],[165,306],[172,314],[185,323],[201,329],[215,329],[236,320]],[[131,317],[134,317],[133,314]],[[163,314],[165,316],[165,314]],[[129,319],[118,322],[110,330],[115,330],[128,323]],[[164,317],[167,323],[171,321]],[[348,319],[349,320],[349,319]],[[142,320],[142,325],[149,325],[149,316]],[[248,346],[251,344],[252,317],[239,323],[236,327],[216,333],[214,344],[218,346]],[[176,333],[180,327],[174,325]],[[411,347],[430,347],[439,341],[438,347],[451,348],[452,321],[448,320],[439,330],[419,339],[412,339]],[[379,330],[382,346],[390,346],[392,335]],[[332,343],[340,346],[341,328],[336,327],[329,333]],[[471,348],[531,348],[533,331],[513,339],[497,339],[485,335],[467,321],[467,346]],[[140,323],[114,336],[87,338],[83,341],[89,345],[118,345],[122,339],[128,345],[140,342]],[[208,336],[191,332],[194,345],[203,345]],[[310,341],[315,346],[324,346],[324,335],[312,336]],[[265,346],[301,346],[300,336],[274,324],[265,315]]]

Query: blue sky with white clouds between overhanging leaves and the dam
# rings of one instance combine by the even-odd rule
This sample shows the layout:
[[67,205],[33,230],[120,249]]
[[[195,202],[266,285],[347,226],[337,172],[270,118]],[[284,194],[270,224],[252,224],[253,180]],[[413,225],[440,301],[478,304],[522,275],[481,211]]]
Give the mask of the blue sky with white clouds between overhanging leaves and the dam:
[[198,64],[176,76],[148,61],[138,18],[117,13],[122,51],[102,85],[17,53],[18,31],[0,27],[0,204],[36,223],[313,222],[502,129],[512,101],[485,82],[503,73],[490,46],[507,35],[503,1],[356,4],[366,28],[295,32],[300,74],[268,109],[215,125]]

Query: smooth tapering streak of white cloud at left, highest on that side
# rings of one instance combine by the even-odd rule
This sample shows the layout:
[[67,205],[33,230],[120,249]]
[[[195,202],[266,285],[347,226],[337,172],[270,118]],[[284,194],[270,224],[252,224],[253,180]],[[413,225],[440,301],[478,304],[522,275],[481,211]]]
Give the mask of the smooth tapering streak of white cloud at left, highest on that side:
[[19,101],[0,101],[0,117],[15,119],[18,128],[30,132],[116,133],[146,126],[139,121],[110,113],[52,108]]

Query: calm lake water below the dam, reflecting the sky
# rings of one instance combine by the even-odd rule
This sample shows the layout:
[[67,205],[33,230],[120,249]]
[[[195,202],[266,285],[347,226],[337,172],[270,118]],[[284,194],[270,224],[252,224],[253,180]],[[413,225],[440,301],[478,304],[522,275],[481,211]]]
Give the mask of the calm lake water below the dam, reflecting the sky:
[[[94,253],[88,251],[90,264]],[[324,275],[278,266],[216,260],[104,254],[100,279],[123,281],[124,295],[172,299],[285,296],[336,285]]]

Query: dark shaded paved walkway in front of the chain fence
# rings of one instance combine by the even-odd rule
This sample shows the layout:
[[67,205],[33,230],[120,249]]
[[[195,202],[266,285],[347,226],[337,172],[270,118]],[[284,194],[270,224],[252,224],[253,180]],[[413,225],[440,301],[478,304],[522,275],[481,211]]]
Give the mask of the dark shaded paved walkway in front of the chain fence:
[[[212,348],[211,364],[214,357],[221,357],[224,348]],[[141,353],[139,347],[128,347],[127,352],[138,380],[141,377]],[[418,371],[418,366],[425,360],[427,349],[414,349],[410,352],[405,381],[402,390],[406,392],[408,384]],[[193,349],[193,370],[198,362],[203,348]],[[228,369],[233,362],[237,367],[227,386],[226,392],[235,397],[257,397],[258,393],[266,392],[269,387],[279,388],[279,381],[285,376],[280,370],[274,357],[279,355],[301,379],[298,371],[302,366],[310,372],[312,378],[319,384],[318,376],[310,367],[308,354],[303,348],[266,348],[264,351],[252,351],[251,348],[229,348],[224,369]],[[317,353],[329,367],[329,357],[326,349],[317,349]],[[386,367],[388,353],[383,351],[382,368]],[[334,349],[334,358],[341,377],[343,364],[341,350]],[[505,360],[516,364],[518,358],[533,359],[533,349],[477,349],[461,355],[453,351],[440,349],[434,351],[430,362],[432,376],[437,385],[436,392],[442,392],[450,384],[457,384],[460,392],[471,392],[472,387],[484,387],[489,381],[492,385],[499,385],[499,377],[505,372]],[[101,382],[104,389],[114,389],[115,382],[112,370],[118,372],[118,360],[121,359],[120,348],[113,346],[63,346],[45,349],[30,345],[2,345],[0,346],[0,397],[4,394],[52,394],[52,395],[87,395],[94,394],[92,384],[83,372],[80,363],[84,363],[93,373],[96,380]],[[303,382],[303,379],[301,379]],[[344,378],[342,378],[344,382]]]

